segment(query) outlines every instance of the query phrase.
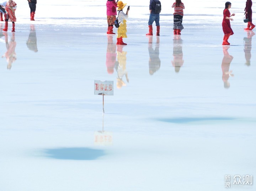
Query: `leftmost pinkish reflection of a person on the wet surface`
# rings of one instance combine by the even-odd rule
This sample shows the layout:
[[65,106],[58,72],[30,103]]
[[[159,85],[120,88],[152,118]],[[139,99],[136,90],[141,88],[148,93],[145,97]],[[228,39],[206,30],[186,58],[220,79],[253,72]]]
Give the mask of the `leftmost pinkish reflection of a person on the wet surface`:
[[7,61],[7,69],[11,69],[12,63],[17,60],[15,48],[16,48],[16,42],[15,42],[15,33],[12,33],[11,40],[8,42],[8,34],[7,32],[3,33],[5,36],[5,45],[7,51],[4,55],[2,55],[2,58],[6,58]]

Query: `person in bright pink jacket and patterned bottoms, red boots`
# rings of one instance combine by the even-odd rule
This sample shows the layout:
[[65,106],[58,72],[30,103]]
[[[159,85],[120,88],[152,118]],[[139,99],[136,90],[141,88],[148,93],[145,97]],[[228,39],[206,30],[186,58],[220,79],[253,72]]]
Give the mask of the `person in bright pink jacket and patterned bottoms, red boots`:
[[114,25],[114,22],[116,21],[116,15],[117,15],[116,0],[107,0],[106,6],[107,6],[107,22],[108,22],[107,34],[116,34],[116,33],[113,33],[113,25]]

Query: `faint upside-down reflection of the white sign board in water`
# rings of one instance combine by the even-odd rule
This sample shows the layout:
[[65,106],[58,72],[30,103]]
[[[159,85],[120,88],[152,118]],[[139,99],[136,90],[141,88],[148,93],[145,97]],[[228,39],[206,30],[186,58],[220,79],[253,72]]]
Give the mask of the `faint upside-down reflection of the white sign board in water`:
[[95,131],[94,145],[111,146],[113,144],[113,133],[111,131]]

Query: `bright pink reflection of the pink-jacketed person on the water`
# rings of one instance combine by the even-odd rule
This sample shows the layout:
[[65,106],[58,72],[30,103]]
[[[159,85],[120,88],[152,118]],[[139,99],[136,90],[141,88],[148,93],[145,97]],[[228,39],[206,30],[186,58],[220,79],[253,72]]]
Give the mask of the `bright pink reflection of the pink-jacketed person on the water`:
[[107,35],[108,45],[107,45],[107,54],[106,54],[106,66],[107,72],[113,74],[114,65],[116,63],[116,44],[113,43],[113,36]]

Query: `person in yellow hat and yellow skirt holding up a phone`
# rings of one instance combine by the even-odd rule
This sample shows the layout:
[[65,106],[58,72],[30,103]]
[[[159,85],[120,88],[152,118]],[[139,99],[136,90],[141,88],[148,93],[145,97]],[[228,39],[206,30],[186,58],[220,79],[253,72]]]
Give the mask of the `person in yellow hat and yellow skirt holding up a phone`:
[[130,9],[128,7],[126,14],[124,14],[123,8],[126,6],[126,3],[123,4],[122,1],[118,1],[117,6],[118,22],[120,23],[120,26],[117,29],[117,45],[127,45],[123,42],[123,38],[127,38],[126,19],[128,18],[128,12]]

